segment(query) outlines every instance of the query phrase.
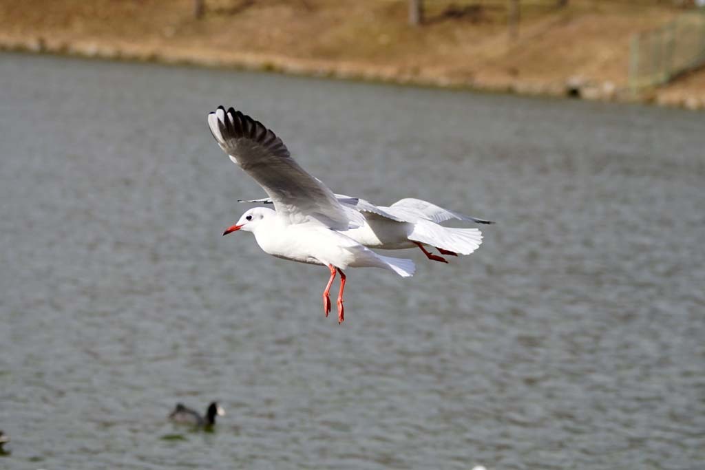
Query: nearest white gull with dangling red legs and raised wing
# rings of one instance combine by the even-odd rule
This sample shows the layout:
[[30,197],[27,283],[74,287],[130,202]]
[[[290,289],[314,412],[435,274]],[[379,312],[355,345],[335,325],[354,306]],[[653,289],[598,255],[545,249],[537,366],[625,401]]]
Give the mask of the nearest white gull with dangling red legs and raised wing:
[[208,125],[216,142],[231,161],[252,176],[269,195],[271,209],[255,208],[223,235],[252,232],[262,251],[300,263],[328,266],[331,277],[323,293],[324,312],[331,310],[329,290],[336,272],[341,275],[338,322],[343,316],[343,290],[348,267],[375,267],[412,276],[410,259],[381,256],[341,232],[364,224],[359,211],[344,207],[320,180],[309,175],[291,158],[288,149],[250,116],[223,106],[210,113]]

